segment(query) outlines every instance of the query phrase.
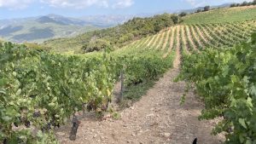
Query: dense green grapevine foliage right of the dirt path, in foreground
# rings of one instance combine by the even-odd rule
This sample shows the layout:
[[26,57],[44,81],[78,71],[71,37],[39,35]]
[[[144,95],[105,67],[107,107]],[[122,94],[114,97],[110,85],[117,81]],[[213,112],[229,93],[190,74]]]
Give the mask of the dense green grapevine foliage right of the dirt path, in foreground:
[[207,49],[184,57],[181,78],[195,84],[205,102],[202,119],[224,117],[214,134],[228,144],[256,142],[256,37],[234,49]]

